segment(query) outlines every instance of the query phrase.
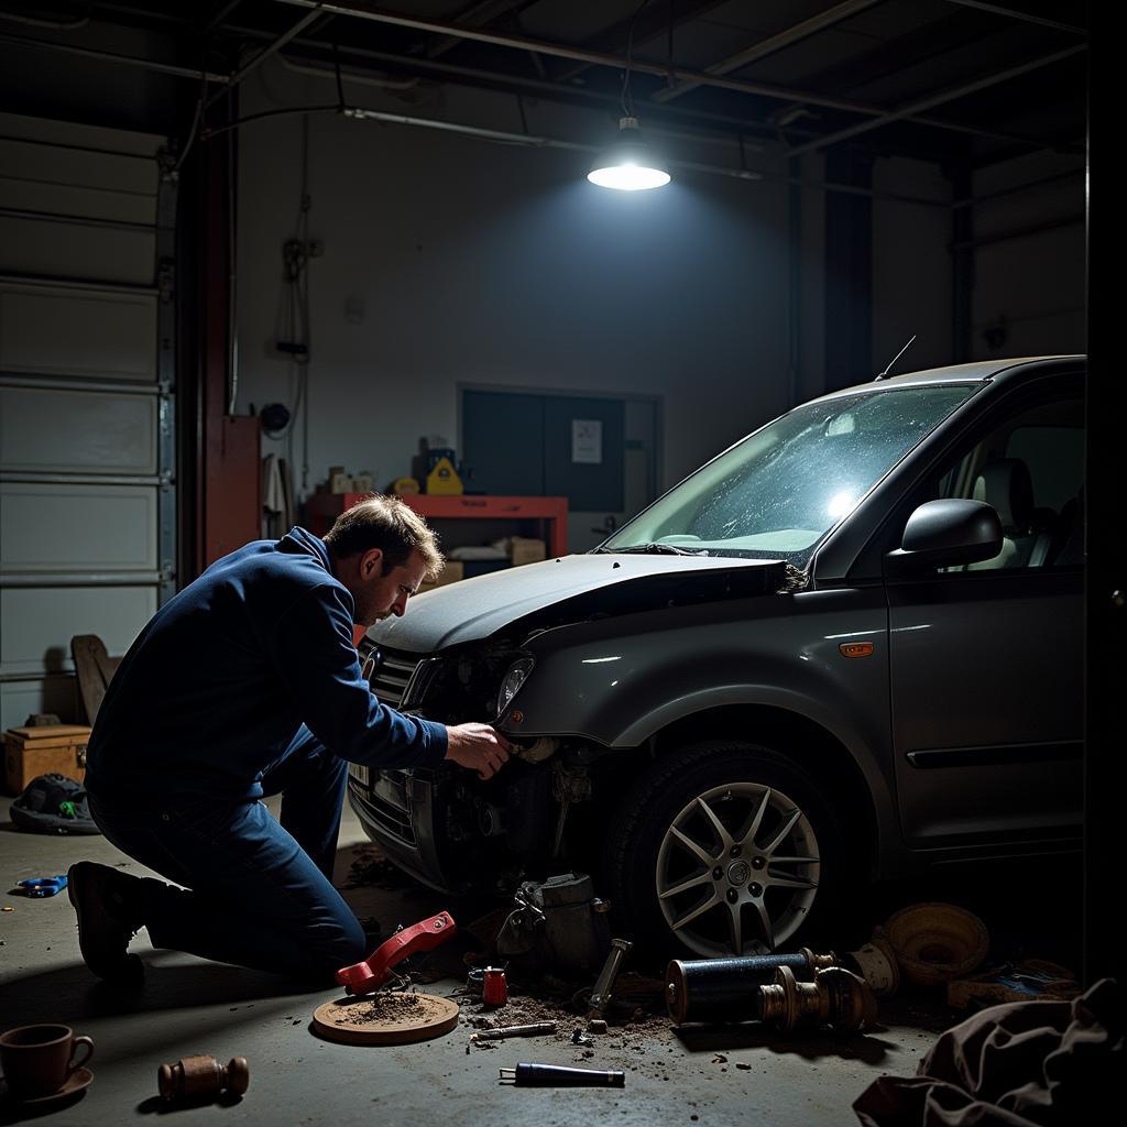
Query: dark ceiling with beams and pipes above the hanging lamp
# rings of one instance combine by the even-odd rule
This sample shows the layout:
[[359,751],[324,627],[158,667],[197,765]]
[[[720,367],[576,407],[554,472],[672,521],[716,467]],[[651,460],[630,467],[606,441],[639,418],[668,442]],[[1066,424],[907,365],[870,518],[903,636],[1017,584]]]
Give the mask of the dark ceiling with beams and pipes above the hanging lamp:
[[629,52],[650,127],[965,168],[1084,153],[1088,8],[1068,0],[0,0],[0,52],[9,109],[77,101],[174,135],[201,69],[215,117],[274,54],[385,94],[455,83],[612,118]]

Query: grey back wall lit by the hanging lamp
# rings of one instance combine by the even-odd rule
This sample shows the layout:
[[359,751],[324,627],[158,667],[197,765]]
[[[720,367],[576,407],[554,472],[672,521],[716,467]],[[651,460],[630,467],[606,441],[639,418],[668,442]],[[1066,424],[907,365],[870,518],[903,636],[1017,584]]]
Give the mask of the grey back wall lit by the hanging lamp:
[[[269,72],[243,113],[323,100],[304,81]],[[658,486],[789,406],[784,184],[685,174],[612,193],[587,184],[584,152],[305,121],[309,233],[325,250],[309,267],[310,488],[330,463],[387,485],[420,435],[453,441],[459,381],[660,397]],[[302,117],[246,126],[239,143],[238,407],[292,406],[274,343]]]

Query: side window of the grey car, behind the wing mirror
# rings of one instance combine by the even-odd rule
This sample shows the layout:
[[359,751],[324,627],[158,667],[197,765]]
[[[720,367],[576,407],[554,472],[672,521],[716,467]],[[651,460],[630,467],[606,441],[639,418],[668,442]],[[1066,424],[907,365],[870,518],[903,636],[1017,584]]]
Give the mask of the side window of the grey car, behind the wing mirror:
[[1002,521],[1002,551],[992,559],[944,570],[1082,564],[1083,485],[1083,399],[1054,399],[1015,411],[961,453],[934,494],[992,505]]

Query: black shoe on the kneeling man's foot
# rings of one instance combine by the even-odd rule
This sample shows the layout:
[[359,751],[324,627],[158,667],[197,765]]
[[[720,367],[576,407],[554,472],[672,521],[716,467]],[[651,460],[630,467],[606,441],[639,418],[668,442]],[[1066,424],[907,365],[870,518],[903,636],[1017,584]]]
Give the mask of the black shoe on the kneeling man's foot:
[[82,958],[108,982],[137,984],[144,978],[144,965],[128,953],[130,940],[143,923],[130,895],[135,880],[92,861],[79,861],[66,871],[66,894],[78,913]]

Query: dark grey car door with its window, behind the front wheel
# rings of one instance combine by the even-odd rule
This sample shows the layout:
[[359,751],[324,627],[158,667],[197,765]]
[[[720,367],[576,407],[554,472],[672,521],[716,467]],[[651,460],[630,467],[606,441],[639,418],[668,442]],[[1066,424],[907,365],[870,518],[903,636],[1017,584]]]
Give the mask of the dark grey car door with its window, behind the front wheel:
[[992,560],[887,580],[896,781],[915,848],[1079,835],[1083,420],[1079,378],[1010,394],[905,507],[904,520],[934,497],[985,500],[1004,536]]

